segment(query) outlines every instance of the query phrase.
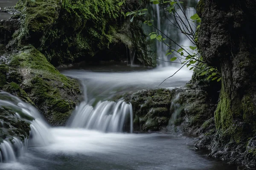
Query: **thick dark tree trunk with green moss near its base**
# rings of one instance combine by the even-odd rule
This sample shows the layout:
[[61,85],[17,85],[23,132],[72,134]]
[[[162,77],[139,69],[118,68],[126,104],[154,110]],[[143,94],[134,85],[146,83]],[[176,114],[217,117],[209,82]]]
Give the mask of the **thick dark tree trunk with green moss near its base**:
[[201,18],[201,53],[221,72],[215,124],[238,142],[256,135],[256,1],[204,0]]

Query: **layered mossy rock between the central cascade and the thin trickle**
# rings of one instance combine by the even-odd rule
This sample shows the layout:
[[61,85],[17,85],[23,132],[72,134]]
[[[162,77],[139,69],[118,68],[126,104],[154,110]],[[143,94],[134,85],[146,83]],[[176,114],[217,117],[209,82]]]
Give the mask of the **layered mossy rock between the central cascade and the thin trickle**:
[[157,131],[168,125],[170,106],[175,91],[169,89],[142,90],[131,98],[134,130]]

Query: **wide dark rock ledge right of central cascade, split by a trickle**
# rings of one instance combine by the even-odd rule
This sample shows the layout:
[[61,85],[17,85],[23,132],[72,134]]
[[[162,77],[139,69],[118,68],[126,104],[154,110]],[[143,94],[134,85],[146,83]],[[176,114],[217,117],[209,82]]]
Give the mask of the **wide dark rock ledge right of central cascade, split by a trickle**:
[[[205,120],[213,117],[216,108],[206,91],[186,88],[138,91],[132,95],[131,103],[135,131],[179,129],[179,132],[195,135],[201,134],[198,129]],[[175,107],[176,104],[179,107]],[[177,117],[172,122],[171,117],[175,112]]]

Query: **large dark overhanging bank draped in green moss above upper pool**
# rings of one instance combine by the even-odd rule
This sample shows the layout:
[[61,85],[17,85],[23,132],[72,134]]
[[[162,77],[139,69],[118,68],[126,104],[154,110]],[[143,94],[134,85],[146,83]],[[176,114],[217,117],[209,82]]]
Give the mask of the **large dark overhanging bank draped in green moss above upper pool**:
[[[9,50],[32,44],[55,66],[81,61],[125,61],[127,56],[133,57],[129,51],[136,51],[136,64],[156,66],[143,23],[125,19],[118,3],[119,0],[20,0],[15,18],[0,23],[0,35],[6,35],[5,39],[0,37],[0,43],[7,44]],[[10,23],[15,23],[15,29],[9,28]],[[114,52],[116,49],[120,54]]]

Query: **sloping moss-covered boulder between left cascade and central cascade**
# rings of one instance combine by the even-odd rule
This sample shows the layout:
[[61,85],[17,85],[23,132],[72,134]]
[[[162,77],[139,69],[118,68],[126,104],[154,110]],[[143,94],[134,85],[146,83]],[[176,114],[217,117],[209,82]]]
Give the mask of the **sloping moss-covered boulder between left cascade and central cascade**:
[[51,125],[64,125],[80,94],[79,84],[62,75],[33,46],[13,52],[2,65],[3,90],[35,105]]

